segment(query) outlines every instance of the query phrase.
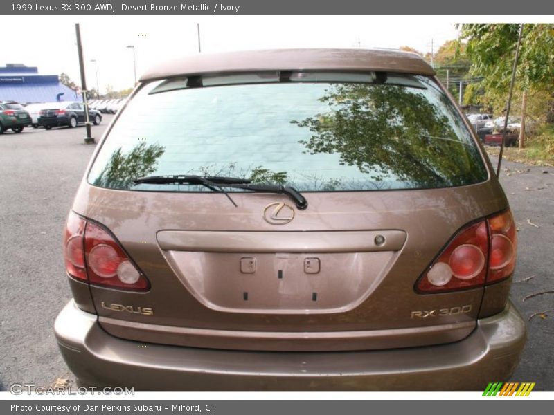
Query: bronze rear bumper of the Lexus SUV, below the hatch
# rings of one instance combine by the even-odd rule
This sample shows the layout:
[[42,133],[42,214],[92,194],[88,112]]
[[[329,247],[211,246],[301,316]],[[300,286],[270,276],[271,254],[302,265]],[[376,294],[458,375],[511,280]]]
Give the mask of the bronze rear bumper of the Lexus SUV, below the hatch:
[[56,319],[55,335],[69,369],[86,385],[148,391],[482,391],[515,370],[526,325],[509,303],[451,344],[348,352],[229,351],[115,338],[72,300]]

